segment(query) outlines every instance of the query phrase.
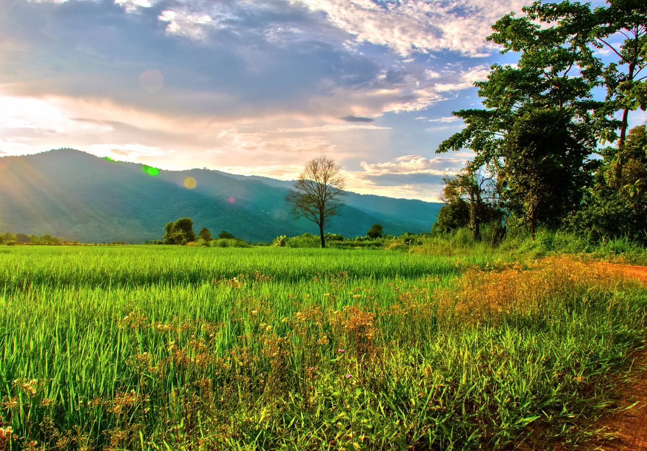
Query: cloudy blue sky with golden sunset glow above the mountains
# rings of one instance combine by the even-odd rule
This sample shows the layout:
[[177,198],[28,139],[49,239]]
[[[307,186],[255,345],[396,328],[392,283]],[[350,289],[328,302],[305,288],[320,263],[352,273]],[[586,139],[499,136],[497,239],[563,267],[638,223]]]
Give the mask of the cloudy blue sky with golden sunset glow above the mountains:
[[435,201],[470,158],[435,154],[452,111],[514,62],[490,25],[525,3],[0,0],[0,156],[293,180],[325,154],[349,191]]

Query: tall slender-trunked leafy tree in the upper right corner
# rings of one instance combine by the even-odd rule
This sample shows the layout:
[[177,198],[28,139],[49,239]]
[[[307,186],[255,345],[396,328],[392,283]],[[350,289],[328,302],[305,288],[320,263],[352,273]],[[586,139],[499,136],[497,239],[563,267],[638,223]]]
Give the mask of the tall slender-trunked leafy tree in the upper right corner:
[[[587,58],[580,58],[578,66],[589,84],[606,89],[605,101],[595,113],[600,126],[597,132],[602,140],[617,139],[617,147],[608,148],[602,154],[613,165],[609,183],[620,189],[629,114],[632,110],[647,108],[647,74],[641,74],[647,66],[647,2],[613,0],[593,10],[588,5],[569,1],[545,5],[536,2],[525,11],[532,20],[556,24],[549,30],[577,30],[580,36],[586,37],[589,48],[607,51],[608,63],[603,64],[600,58],[587,52]],[[562,43],[566,42],[562,39]],[[617,113],[620,113],[619,120],[615,119]]]

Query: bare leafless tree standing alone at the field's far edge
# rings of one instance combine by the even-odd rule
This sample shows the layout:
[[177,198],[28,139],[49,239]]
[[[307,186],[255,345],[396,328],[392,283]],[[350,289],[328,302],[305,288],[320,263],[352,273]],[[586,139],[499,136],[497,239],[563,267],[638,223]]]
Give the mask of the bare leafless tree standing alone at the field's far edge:
[[325,247],[323,229],[330,216],[344,205],[344,176],[340,165],[325,155],[305,163],[285,201],[292,205],[292,214],[306,218],[319,226],[322,247]]

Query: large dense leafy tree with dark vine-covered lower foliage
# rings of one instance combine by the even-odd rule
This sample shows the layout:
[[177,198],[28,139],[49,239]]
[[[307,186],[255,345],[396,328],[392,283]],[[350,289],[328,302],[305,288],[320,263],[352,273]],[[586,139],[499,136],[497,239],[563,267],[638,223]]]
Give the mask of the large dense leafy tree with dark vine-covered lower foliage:
[[[533,236],[538,225],[559,224],[575,207],[586,156],[595,149],[598,129],[609,123],[593,116],[602,105],[591,100],[600,66],[589,45],[590,27],[578,22],[590,8],[561,5],[555,26],[540,23],[537,3],[524,9],[526,16],[509,14],[492,26],[488,39],[503,53],[519,52],[518,65],[494,65],[487,81],[475,83],[486,109],[454,112],[466,127],[437,149],[472,149],[467,173],[488,167],[502,206],[525,219]],[[474,201],[471,228],[478,236]]]

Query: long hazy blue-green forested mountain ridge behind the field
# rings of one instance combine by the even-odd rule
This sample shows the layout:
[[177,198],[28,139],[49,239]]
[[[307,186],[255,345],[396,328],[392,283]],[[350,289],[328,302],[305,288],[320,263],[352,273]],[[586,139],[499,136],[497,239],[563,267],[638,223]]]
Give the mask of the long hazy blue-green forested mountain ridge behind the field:
[[[290,182],[210,171],[151,171],[72,149],[0,158],[0,231],[49,233],[80,242],[143,242],[164,235],[166,222],[188,216],[195,231],[226,230],[250,241],[317,233],[293,220],[285,204]],[[197,182],[188,189],[184,180]],[[347,194],[327,231],[364,235],[429,231],[441,204]]]

